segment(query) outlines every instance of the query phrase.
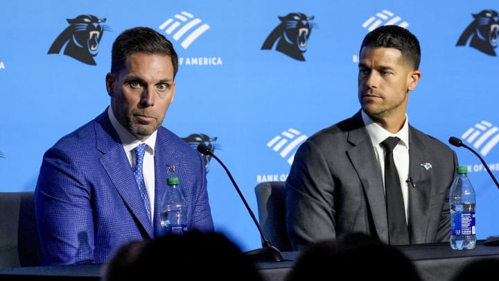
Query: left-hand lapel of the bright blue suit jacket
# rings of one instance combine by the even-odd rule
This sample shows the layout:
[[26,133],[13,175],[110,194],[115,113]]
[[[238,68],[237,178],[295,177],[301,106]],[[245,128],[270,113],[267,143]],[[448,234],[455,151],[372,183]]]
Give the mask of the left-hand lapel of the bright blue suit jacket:
[[141,226],[148,232],[148,235],[154,237],[152,225],[146,207],[142,201],[139,187],[133,176],[132,167],[125,155],[123,145],[119,137],[112,128],[111,122],[107,117],[107,110],[101,115],[102,118],[96,124],[96,138],[99,139],[96,146],[103,153],[100,162],[119,192],[123,202],[128,206],[132,216],[137,217]]

